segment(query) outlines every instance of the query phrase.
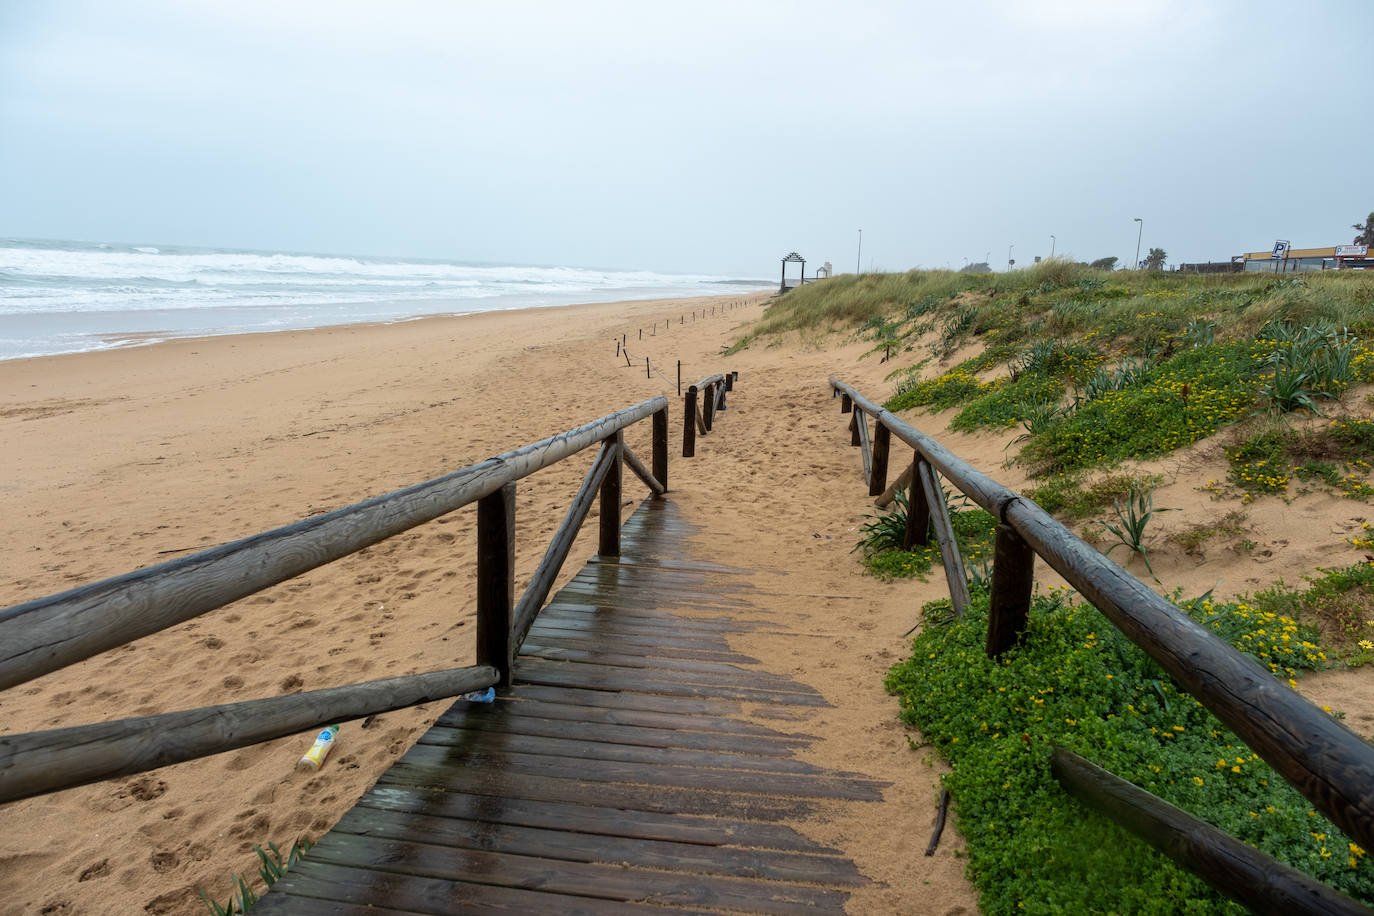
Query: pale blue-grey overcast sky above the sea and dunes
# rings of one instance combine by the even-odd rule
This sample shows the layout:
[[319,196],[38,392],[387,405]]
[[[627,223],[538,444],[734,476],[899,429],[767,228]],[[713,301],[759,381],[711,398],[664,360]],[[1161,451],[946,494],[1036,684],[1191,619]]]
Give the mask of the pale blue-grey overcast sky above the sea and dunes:
[[0,235],[731,276],[1348,243],[1370,0],[3,0]]

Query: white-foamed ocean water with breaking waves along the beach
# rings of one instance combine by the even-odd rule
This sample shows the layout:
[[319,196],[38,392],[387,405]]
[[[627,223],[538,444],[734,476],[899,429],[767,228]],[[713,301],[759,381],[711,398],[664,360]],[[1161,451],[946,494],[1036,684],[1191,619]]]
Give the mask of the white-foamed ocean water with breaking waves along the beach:
[[0,239],[0,360],[576,302],[732,295],[763,279]]

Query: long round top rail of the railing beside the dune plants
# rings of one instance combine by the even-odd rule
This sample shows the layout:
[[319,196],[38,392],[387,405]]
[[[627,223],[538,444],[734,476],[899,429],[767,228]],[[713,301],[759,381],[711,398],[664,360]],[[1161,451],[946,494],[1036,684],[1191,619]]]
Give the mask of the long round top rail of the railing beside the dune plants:
[[886,424],[969,499],[1004,520],[1059,575],[1364,849],[1374,849],[1374,747],[1209,633],[1048,512],[974,470],[851,386],[834,389]]

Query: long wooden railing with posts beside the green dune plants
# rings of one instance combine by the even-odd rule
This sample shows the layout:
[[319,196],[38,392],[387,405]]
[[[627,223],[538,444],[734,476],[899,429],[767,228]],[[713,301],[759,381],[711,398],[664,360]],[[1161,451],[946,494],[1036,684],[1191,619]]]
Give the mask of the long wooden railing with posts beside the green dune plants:
[[[830,387],[831,396],[841,397],[841,411],[853,413],[851,442],[861,449],[871,496],[886,490],[892,437],[912,448],[908,479],[919,486],[912,483],[910,490],[905,545],[925,541],[927,525],[936,530],[958,612],[969,600],[967,580],[936,474],[996,519],[988,655],[998,656],[1021,640],[1039,555],[1315,808],[1360,846],[1374,849],[1374,747],[1156,595],[1033,501],[974,470],[849,385],[831,378]],[[1055,753],[1054,773],[1070,792],[1256,912],[1370,913],[1352,898],[1153,795],[1149,798],[1157,805],[1140,805],[1139,797],[1147,792],[1062,748]]]

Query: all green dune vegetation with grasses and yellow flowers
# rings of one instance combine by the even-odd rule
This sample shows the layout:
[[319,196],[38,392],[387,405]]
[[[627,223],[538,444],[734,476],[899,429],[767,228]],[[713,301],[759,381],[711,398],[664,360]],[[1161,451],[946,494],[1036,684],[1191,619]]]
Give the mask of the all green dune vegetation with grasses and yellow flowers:
[[[1356,397],[1374,382],[1367,273],[1048,261],[999,275],[844,276],[780,297],[735,346],[794,332],[870,341],[870,356],[893,367],[889,411],[949,412],[949,428],[969,433],[1020,428],[1007,460],[1030,479],[1026,494],[1066,522],[1106,514],[1101,548],[1138,552],[1147,571],[1157,481],[1128,468],[1219,433],[1227,477],[1201,490],[1241,505],[1292,499],[1298,486],[1374,496],[1374,417],[1370,396]],[[1245,912],[1072,801],[1050,775],[1054,744],[1374,902],[1366,850],[1073,592],[1037,593],[1025,644],[989,661],[993,519],[958,496],[949,508],[973,607],[955,619],[948,600],[927,604],[886,685],[952,765],[945,783],[984,912]],[[877,575],[925,575],[938,562],[934,548],[900,549],[904,512],[899,497],[860,531],[856,553]],[[1231,523],[1217,515],[1208,536]],[[1352,544],[1374,551],[1363,530]],[[1279,581],[1235,600],[1171,597],[1297,687],[1307,670],[1374,661],[1374,560],[1311,573],[1304,588]]]

